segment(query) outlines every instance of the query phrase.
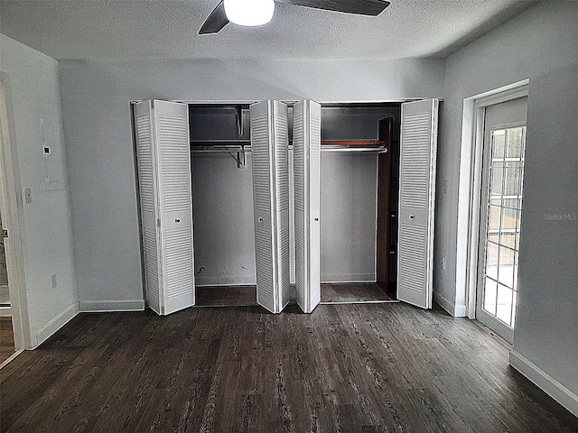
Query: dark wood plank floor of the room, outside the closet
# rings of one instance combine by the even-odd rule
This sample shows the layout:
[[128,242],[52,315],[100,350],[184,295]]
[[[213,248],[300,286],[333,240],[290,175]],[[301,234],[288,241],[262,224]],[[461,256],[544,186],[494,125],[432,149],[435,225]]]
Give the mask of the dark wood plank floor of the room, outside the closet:
[[5,432],[578,431],[494,337],[400,303],[83,313],[0,375]]

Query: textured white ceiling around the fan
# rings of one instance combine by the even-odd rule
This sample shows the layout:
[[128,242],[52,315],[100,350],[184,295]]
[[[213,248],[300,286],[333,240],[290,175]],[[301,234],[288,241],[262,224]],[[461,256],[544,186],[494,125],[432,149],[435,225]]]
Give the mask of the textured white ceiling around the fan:
[[[378,17],[277,4],[259,28],[197,34],[218,0],[0,1],[0,32],[57,60],[444,57],[535,5],[391,0]],[[1,47],[0,47],[1,49]]]

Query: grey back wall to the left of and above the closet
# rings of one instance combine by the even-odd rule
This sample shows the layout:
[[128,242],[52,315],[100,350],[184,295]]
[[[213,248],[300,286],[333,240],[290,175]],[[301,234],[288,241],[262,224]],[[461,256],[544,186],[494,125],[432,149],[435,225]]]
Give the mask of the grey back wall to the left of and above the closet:
[[[129,101],[439,97],[443,60],[59,62],[80,307],[143,299]],[[112,306],[107,303],[107,306]]]

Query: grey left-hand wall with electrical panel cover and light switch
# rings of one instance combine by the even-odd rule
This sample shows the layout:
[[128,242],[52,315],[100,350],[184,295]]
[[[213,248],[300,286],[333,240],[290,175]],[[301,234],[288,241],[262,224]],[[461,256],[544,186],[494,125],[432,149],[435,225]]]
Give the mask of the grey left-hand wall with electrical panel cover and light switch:
[[[35,346],[79,310],[58,64],[0,34],[0,69],[8,77],[20,182],[22,188],[32,189],[33,201],[23,205],[21,224],[30,344]],[[42,189],[46,182],[41,117],[46,119],[45,142],[63,169],[57,190]],[[52,288],[54,274],[57,286]]]

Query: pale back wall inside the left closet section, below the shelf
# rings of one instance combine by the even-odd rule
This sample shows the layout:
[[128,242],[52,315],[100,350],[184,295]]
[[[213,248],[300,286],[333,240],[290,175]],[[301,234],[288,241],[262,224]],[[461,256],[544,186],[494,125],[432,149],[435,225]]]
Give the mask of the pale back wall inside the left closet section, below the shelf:
[[193,153],[192,207],[197,285],[256,284],[252,158]]

